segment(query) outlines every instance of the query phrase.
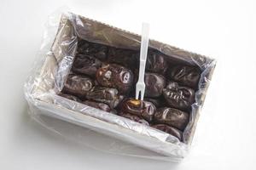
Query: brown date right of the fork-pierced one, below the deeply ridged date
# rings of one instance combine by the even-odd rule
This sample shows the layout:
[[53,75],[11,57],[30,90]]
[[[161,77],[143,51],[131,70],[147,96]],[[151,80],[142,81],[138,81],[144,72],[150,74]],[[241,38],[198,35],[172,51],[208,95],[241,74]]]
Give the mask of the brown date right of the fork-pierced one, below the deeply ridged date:
[[163,107],[155,111],[154,122],[167,124],[183,130],[189,122],[189,114],[177,109]]

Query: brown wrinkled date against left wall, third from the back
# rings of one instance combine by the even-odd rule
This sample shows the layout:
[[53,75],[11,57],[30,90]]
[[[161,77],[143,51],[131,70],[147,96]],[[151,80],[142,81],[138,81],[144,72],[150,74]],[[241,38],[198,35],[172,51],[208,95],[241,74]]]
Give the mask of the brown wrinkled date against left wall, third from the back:
[[93,86],[94,83],[90,77],[70,74],[67,76],[67,80],[64,83],[64,87],[61,92],[64,94],[72,94],[80,99],[84,99],[85,95]]

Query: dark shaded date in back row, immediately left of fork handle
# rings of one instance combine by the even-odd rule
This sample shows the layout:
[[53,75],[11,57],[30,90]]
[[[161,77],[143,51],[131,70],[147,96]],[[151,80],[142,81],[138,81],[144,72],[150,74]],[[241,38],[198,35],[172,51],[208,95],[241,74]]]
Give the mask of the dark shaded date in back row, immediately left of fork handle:
[[130,49],[109,48],[108,49],[108,62],[124,65],[127,68],[139,68],[138,63],[139,53]]

